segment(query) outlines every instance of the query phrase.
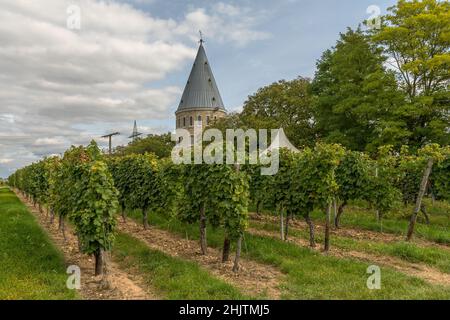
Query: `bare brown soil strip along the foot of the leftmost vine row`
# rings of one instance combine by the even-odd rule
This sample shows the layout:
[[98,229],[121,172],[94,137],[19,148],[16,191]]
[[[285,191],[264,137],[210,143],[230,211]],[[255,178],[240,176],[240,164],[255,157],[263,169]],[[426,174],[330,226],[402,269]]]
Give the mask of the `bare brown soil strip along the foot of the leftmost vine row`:
[[[94,276],[94,259],[80,253],[78,240],[72,228],[66,223],[66,239],[58,230],[57,219],[50,224],[49,216],[39,212],[27,199],[16,192],[17,197],[28,207],[36,217],[39,225],[47,232],[52,242],[64,255],[67,266],[76,265],[81,270],[81,288],[78,291],[86,300],[154,300],[157,296],[151,292],[144,281],[136,274],[129,274],[119,269],[116,263],[108,259],[108,282],[105,286],[101,276]],[[68,275],[69,276],[69,275]],[[145,289],[144,289],[145,288]]]

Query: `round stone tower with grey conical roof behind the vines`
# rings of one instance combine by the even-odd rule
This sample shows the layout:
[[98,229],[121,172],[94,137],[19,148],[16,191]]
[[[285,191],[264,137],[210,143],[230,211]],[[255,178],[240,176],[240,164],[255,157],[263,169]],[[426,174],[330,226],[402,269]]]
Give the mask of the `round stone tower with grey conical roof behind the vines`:
[[227,111],[206,57],[203,39],[200,39],[194,65],[175,112],[176,128],[187,129],[193,134],[196,122],[201,123],[204,129],[226,114]]

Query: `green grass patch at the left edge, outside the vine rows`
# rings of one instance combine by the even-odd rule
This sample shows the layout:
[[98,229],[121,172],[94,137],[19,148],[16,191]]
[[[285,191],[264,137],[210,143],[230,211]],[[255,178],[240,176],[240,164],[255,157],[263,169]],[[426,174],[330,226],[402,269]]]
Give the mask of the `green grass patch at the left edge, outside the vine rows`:
[[8,188],[0,187],[0,300],[77,299],[63,255]]

